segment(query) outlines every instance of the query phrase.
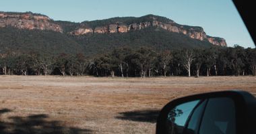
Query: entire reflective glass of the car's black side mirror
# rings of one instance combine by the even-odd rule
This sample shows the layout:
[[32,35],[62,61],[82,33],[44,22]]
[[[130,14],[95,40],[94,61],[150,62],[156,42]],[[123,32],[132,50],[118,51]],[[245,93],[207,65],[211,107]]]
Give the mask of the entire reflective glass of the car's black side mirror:
[[235,134],[235,114],[232,98],[193,100],[168,112],[166,131],[170,134]]

